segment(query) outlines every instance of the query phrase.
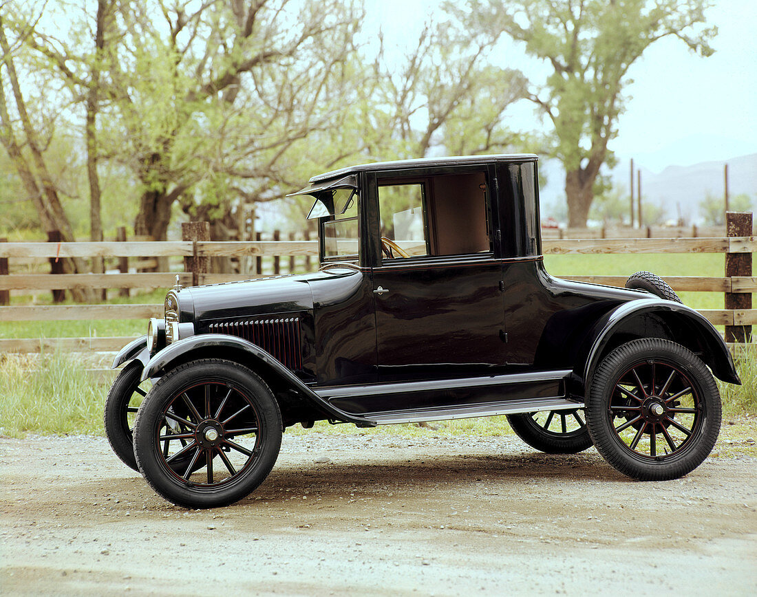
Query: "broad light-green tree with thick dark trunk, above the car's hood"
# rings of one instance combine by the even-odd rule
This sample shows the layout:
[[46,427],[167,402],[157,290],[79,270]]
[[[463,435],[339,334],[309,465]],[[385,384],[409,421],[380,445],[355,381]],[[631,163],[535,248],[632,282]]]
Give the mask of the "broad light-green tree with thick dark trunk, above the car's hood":
[[357,22],[341,0],[153,0],[121,17],[109,132],[142,185],[137,234],[165,238],[179,199],[211,217],[235,192],[260,199],[297,141],[337,123],[329,77]]

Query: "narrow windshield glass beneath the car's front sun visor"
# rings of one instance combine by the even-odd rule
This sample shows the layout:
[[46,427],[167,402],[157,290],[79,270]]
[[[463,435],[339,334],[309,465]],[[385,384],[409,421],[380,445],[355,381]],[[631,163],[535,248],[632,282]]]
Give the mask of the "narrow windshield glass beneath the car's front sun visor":
[[323,257],[354,259],[360,250],[359,197],[351,188],[338,188],[328,193],[328,197],[319,199],[325,213],[332,213],[332,219],[323,222]]

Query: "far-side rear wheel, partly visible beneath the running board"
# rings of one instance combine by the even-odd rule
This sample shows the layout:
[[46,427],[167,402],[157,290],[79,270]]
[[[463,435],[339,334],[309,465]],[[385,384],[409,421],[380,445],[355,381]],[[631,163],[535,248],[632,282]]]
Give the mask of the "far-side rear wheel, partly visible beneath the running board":
[[547,454],[576,454],[591,447],[584,409],[507,415],[512,431],[532,448]]

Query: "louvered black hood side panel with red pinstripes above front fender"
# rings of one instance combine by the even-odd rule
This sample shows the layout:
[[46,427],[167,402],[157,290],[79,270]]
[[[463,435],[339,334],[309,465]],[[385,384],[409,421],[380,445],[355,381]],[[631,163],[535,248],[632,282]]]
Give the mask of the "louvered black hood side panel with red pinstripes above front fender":
[[302,368],[298,317],[218,322],[210,324],[208,331],[211,334],[229,334],[249,340],[291,371]]

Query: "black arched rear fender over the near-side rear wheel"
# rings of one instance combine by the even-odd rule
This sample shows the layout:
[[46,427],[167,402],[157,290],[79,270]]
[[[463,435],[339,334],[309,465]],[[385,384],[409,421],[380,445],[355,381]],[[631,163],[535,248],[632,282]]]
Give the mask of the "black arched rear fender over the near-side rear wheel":
[[650,298],[623,303],[597,322],[590,336],[590,344],[584,348],[584,381],[587,388],[603,356],[614,348],[614,337],[618,334],[650,337],[644,334],[643,323],[646,320],[660,322],[667,331],[665,337],[699,353],[715,377],[731,384],[741,384],[731,351],[712,323],[689,306]]

